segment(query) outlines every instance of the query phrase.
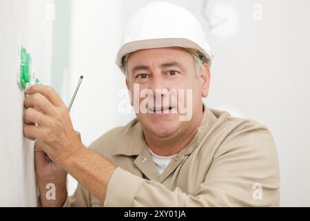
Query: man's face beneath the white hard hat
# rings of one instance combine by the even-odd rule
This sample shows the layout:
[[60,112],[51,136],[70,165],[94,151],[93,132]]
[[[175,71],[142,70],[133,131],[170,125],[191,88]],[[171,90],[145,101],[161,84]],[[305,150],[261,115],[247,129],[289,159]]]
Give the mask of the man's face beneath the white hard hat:
[[209,68],[207,64],[203,68],[205,73],[200,71],[197,77],[194,57],[184,48],[144,49],[130,54],[126,84],[145,133],[168,137],[197,124],[202,97],[207,97],[209,90]]

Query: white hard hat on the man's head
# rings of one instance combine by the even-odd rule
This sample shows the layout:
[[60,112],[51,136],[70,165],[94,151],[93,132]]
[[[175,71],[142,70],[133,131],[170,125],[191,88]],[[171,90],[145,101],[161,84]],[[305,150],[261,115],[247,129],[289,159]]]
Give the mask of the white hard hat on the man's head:
[[167,47],[197,50],[200,59],[211,66],[213,55],[199,21],[184,8],[165,1],[150,3],[130,17],[116,65],[125,73],[125,55],[141,49]]

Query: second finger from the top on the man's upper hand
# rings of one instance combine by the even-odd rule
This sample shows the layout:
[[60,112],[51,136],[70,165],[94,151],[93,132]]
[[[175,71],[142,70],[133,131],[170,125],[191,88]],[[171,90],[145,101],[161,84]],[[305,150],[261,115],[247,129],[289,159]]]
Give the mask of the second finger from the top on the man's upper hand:
[[34,93],[26,97],[23,101],[23,105],[25,108],[39,108],[40,111],[43,111],[43,113],[48,115],[52,115],[52,113],[54,113],[54,105],[40,93]]

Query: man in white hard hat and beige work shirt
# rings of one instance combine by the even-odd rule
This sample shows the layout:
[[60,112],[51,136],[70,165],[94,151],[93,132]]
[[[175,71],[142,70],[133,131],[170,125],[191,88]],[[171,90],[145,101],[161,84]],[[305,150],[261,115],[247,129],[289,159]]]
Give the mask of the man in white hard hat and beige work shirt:
[[[52,88],[27,88],[23,131],[37,140],[41,206],[278,206],[278,157],[268,129],[202,102],[211,59],[189,12],[163,2],[138,10],[116,57],[136,119],[90,148]],[[72,197],[67,173],[79,181]],[[55,200],[45,197],[51,183]]]

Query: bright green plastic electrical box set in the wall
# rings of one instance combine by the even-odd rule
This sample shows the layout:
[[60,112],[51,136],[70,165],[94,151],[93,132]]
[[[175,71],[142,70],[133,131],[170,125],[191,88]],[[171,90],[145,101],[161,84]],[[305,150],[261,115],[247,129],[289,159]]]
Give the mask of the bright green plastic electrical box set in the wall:
[[41,84],[39,79],[34,77],[31,56],[23,46],[19,49],[19,71],[17,73],[17,83],[22,90],[33,84]]

